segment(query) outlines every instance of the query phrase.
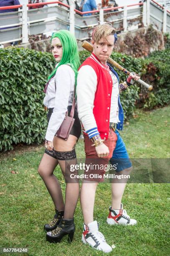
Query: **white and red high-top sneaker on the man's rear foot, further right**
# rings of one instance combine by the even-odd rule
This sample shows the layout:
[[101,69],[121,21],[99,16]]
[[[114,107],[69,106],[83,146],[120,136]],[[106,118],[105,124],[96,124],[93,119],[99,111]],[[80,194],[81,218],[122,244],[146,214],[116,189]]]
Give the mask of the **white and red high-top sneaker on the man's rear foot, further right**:
[[124,225],[135,225],[137,223],[136,220],[131,219],[129,215],[127,215],[127,211],[123,209],[123,205],[121,203],[120,210],[112,210],[112,207],[109,207],[109,215],[107,217],[107,223],[110,225],[114,224],[124,224]]

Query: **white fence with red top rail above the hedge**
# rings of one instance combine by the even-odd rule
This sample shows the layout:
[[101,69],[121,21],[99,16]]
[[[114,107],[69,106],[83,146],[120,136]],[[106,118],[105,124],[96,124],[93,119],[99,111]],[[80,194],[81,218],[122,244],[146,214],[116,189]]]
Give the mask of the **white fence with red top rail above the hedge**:
[[[56,3],[56,5],[50,6],[50,3]],[[28,10],[28,5],[22,5],[22,9],[18,12],[0,13],[0,44],[14,41],[27,43],[28,35],[60,29],[70,30],[77,39],[84,40],[91,36],[94,26],[108,22],[113,23],[114,28],[119,32],[150,24],[163,33],[170,32],[170,12],[153,0],[147,0],[141,4],[91,11],[93,15],[89,16],[82,16],[85,13],[58,1],[41,5],[46,4],[48,7],[31,10]]]

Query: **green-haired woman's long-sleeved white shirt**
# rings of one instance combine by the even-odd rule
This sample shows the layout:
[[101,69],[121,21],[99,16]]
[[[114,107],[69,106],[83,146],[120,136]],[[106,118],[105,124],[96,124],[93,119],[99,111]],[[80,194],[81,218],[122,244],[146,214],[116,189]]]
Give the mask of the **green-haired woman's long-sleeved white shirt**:
[[54,108],[46,131],[48,141],[53,141],[55,133],[64,120],[67,107],[73,104],[74,84],[75,73],[68,64],[58,67],[55,77],[48,84],[43,103],[47,108]]

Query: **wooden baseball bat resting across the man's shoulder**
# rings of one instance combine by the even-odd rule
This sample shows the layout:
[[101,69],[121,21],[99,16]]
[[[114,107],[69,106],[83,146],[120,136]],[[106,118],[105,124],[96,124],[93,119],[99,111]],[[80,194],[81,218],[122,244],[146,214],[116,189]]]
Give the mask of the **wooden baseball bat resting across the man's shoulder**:
[[[90,44],[89,42],[87,42],[86,40],[83,41],[83,43],[81,44],[81,46],[86,49],[89,52],[93,51],[93,46],[92,44]],[[124,72],[124,74],[129,75],[130,72],[125,69],[124,67],[122,67],[121,65],[119,65],[116,61],[114,61],[112,58],[109,58],[107,60],[109,62],[109,64],[111,64],[112,66],[116,67],[117,69],[121,70]],[[141,79],[137,80],[136,82],[138,82],[139,84],[142,84],[144,87],[147,88],[147,90],[151,91],[152,90],[152,85],[149,85],[147,83],[145,83],[144,81],[142,81]]]

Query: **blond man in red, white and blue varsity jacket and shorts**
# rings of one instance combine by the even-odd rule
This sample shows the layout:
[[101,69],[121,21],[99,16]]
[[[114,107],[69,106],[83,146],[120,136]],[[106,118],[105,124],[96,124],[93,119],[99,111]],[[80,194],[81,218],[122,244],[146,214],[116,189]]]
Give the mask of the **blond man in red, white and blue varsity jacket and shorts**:
[[[124,173],[132,169],[127,150],[117,131],[123,127],[119,92],[132,84],[132,79],[140,78],[137,74],[130,74],[126,82],[119,84],[117,72],[107,64],[116,41],[116,31],[112,26],[105,24],[94,28],[91,41],[93,52],[79,68],[76,88],[78,113],[84,132],[85,164],[90,166],[85,172],[80,194],[84,216],[82,241],[105,253],[112,251],[112,247],[99,232],[99,224],[93,218],[96,187],[104,180],[105,170],[93,166],[106,166],[111,158],[113,161],[125,156],[117,172]],[[127,215],[121,203],[124,187],[125,183],[112,182],[112,206],[109,207],[107,218],[110,225],[136,224],[136,220]]]

